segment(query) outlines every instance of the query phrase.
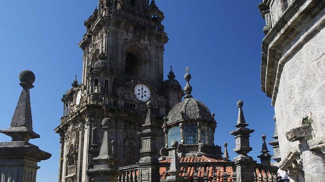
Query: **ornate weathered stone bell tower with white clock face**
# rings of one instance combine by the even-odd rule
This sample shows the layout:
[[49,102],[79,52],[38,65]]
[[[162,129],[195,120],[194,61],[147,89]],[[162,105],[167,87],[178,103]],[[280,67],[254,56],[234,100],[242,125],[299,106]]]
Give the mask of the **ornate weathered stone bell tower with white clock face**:
[[[118,166],[139,161],[141,126],[151,101],[154,124],[181,101],[183,90],[171,70],[164,81],[164,13],[149,0],[99,0],[84,22],[82,82],[63,95],[59,181],[88,181],[110,117],[109,132]],[[163,131],[156,148],[164,146]]]

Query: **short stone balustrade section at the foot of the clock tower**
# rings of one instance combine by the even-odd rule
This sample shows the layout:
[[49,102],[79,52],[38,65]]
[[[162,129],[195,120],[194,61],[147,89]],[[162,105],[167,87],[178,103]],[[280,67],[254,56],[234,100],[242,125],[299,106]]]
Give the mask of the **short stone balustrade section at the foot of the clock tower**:
[[119,167],[120,176],[118,182],[137,182],[140,181],[139,178],[139,165],[129,165],[124,167]]

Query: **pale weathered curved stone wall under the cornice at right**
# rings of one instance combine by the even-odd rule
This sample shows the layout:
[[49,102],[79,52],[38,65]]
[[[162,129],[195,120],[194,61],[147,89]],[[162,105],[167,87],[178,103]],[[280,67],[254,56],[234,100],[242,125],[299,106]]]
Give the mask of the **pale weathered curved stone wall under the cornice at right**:
[[325,31],[322,29],[292,55],[283,67],[275,103],[282,158],[298,145],[298,141],[289,142],[285,133],[301,126],[306,116],[313,120],[311,126],[315,137],[325,137],[324,40]]

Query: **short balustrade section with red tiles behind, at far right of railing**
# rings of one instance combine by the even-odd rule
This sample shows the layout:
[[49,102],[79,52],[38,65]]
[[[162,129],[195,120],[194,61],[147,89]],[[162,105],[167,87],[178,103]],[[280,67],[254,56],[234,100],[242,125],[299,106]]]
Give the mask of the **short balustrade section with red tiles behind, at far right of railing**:
[[279,181],[278,167],[273,165],[255,164],[254,179],[255,182],[275,182]]

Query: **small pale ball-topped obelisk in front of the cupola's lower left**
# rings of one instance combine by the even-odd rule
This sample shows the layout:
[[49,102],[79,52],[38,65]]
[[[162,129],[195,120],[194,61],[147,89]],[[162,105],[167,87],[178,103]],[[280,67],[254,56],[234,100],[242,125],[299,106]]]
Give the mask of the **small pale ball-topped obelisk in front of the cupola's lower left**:
[[171,166],[167,172],[171,174],[169,177],[173,177],[173,176],[175,177],[182,172],[180,170],[181,166],[177,155],[178,142],[176,140],[172,141],[171,146],[172,146],[172,150],[170,151],[170,154],[172,160],[171,160]]

